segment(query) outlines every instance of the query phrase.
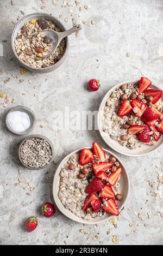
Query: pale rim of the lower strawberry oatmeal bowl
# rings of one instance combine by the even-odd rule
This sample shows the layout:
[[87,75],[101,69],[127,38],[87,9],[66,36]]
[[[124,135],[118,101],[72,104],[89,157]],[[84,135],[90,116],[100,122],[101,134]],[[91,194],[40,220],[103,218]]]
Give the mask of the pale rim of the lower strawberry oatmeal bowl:
[[[57,184],[58,182],[58,179],[60,179],[60,170],[61,170],[61,167],[62,165],[64,165],[66,162],[67,162],[67,159],[70,158],[74,153],[77,153],[79,152],[80,150],[82,150],[83,148],[92,148],[92,147],[82,147],[82,148],[79,148],[77,150],[74,150],[73,152],[69,153],[66,157],[64,157],[61,162],[59,163],[58,167],[57,167],[57,170],[55,171],[55,174],[54,174],[54,179],[53,179],[53,198],[54,198],[54,202],[55,202],[55,205],[57,205],[59,211],[65,215],[67,218],[70,218],[72,221],[75,221],[75,222],[78,222],[78,223],[82,223],[82,224],[93,224],[93,225],[96,225],[96,224],[99,224],[99,223],[104,223],[106,221],[108,221],[108,219],[110,219],[113,215],[110,215],[108,216],[107,218],[105,219],[98,219],[97,218],[97,221],[96,222],[91,222],[91,221],[87,221],[83,218],[79,218],[77,217],[76,215],[74,215],[70,210],[66,209],[64,206],[64,210],[61,209],[60,205],[59,204],[62,204],[59,197],[58,197],[58,192],[59,192],[59,189],[57,187],[57,190],[56,190],[56,186],[55,184]],[[122,204],[122,206],[120,207],[119,211],[122,210],[123,206],[127,203],[127,200],[129,198],[129,194],[130,194],[130,181],[129,181],[129,175],[128,175],[128,172],[127,172],[127,169],[126,169],[126,166],[122,163],[122,160],[120,158],[118,158],[116,156],[115,153],[112,153],[111,151],[109,150],[106,150],[105,148],[103,148],[103,150],[108,153],[108,154],[111,154],[111,156],[114,156],[117,158],[118,162],[120,162],[120,164],[122,165],[123,167],[123,171],[125,172],[126,174],[126,177],[127,177],[127,185],[128,185],[128,190],[127,190],[127,195],[126,195],[126,198],[124,199],[124,202]],[[69,213],[69,214],[68,214]],[[70,214],[71,213],[71,214]],[[72,215],[72,216],[71,216]]]

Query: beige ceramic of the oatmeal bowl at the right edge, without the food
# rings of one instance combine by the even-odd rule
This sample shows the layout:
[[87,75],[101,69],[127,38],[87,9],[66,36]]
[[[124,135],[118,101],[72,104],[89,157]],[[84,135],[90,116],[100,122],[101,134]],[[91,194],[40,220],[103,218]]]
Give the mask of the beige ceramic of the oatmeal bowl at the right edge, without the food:
[[[99,106],[99,110],[98,110],[97,124],[98,124],[99,133],[101,134],[103,140],[113,150],[117,151],[118,153],[124,154],[124,156],[129,156],[129,157],[146,156],[147,154],[150,154],[150,153],[154,152],[155,150],[157,150],[163,144],[163,136],[161,136],[160,141],[158,141],[158,143],[156,145],[154,145],[154,146],[148,146],[148,145],[145,145],[145,144],[142,143],[142,147],[130,150],[128,147],[122,146],[117,141],[112,140],[110,138],[109,134],[103,132],[103,124],[102,124],[103,111],[104,111],[104,107],[105,107],[106,101],[107,101],[108,97],[111,95],[112,91],[114,91],[118,87],[121,87],[122,85],[137,84],[137,82],[139,82],[139,80],[136,80],[136,81],[126,81],[126,82],[122,82],[121,84],[118,84],[118,85],[112,87],[109,90],[109,92],[107,92],[105,94],[105,97],[103,98],[102,103]],[[151,87],[153,89],[155,88],[155,89],[159,90],[159,88],[156,87],[155,85],[152,85]],[[163,101],[163,96],[162,96],[162,101]]]

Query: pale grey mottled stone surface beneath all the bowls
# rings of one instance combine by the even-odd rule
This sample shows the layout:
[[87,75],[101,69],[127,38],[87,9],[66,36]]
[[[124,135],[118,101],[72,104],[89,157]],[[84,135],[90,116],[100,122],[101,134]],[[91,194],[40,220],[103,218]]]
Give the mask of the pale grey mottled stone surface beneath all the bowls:
[[[7,105],[4,109],[3,99],[0,99],[0,203],[1,203],[1,230],[0,243],[2,245],[112,245],[112,236],[118,237],[120,245],[159,245],[163,243],[162,199],[155,200],[151,196],[148,181],[157,180],[157,171],[161,171],[162,148],[143,158],[130,158],[120,156],[126,164],[130,183],[130,198],[125,206],[123,215],[115,229],[111,223],[101,224],[99,227],[87,226],[74,223],[64,217],[59,211],[51,219],[42,218],[39,215],[39,207],[45,201],[53,201],[52,183],[56,166],[51,165],[46,170],[30,171],[22,168],[17,160],[15,147],[21,140],[19,136],[7,131],[4,126],[6,112],[15,105],[26,105],[35,111],[37,123],[33,133],[47,135],[55,147],[55,160],[57,163],[67,153],[76,148],[90,146],[93,140],[97,140],[102,146],[102,139],[97,131],[80,130],[53,130],[52,120],[54,110],[64,111],[65,106],[70,110],[98,110],[99,104],[105,93],[119,82],[148,76],[153,82],[163,89],[163,1],[161,0],[90,0],[83,1],[91,4],[92,8],[84,10],[83,17],[78,21],[88,20],[88,25],[83,25],[78,39],[70,37],[70,52],[64,65],[50,74],[34,74],[27,72],[26,76],[20,74],[21,67],[12,59],[10,51],[10,35],[16,20],[21,15],[42,11],[52,13],[54,16],[63,14],[62,22],[69,17],[65,26],[70,28],[72,21],[68,10],[61,8],[61,0],[52,4],[52,0],[45,1],[45,9],[40,9],[40,0],[13,0],[11,6],[9,0],[2,0],[0,4],[0,43],[4,47],[4,57],[0,57],[0,69],[4,73],[0,76],[1,92],[8,93],[15,98],[15,103]],[[6,8],[5,5],[7,5]],[[80,6],[80,5],[79,5]],[[78,8],[71,8],[77,10]],[[96,25],[91,25],[91,20]],[[121,21],[121,22],[120,22]],[[127,57],[130,52],[130,57]],[[97,62],[98,59],[98,62]],[[18,78],[13,76],[18,75]],[[99,78],[102,82],[101,90],[96,93],[85,90],[85,82],[90,78]],[[10,82],[4,84],[3,80],[10,78]],[[48,81],[45,82],[45,79]],[[19,80],[24,79],[20,83]],[[28,84],[32,79],[32,84]],[[33,86],[36,85],[36,89]],[[26,95],[23,96],[22,93]],[[39,94],[35,98],[34,93]],[[43,124],[44,128],[40,128]],[[22,169],[23,183],[32,183],[35,187],[30,196],[22,186],[15,186],[18,171]],[[160,192],[161,193],[161,192]],[[148,200],[147,204],[145,204]],[[130,210],[129,210],[130,209]],[[130,228],[129,223],[141,222],[134,215],[141,212],[145,222],[140,227]],[[151,219],[147,219],[147,212],[152,213]],[[24,231],[24,220],[31,216],[39,216],[39,227],[34,233]],[[146,228],[143,224],[148,223]],[[106,231],[113,227],[109,235]],[[87,236],[79,232],[84,228],[89,236],[99,233],[99,239],[87,240]],[[139,229],[137,233],[130,232]],[[130,233],[127,237],[126,234]],[[65,242],[64,242],[65,241]]]

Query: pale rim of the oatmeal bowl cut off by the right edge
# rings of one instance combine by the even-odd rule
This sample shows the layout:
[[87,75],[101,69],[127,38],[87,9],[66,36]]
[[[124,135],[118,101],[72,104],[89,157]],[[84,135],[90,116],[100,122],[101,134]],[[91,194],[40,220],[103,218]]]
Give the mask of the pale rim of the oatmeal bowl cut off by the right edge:
[[[110,148],[112,148],[112,150],[115,150],[116,152],[124,155],[124,156],[129,156],[129,157],[143,157],[143,156],[147,156],[148,154],[151,154],[152,152],[158,150],[162,144],[163,144],[163,140],[161,142],[160,145],[156,146],[155,148],[153,148],[151,151],[149,152],[145,152],[145,153],[135,153],[134,155],[133,154],[130,154],[130,153],[127,153],[125,151],[125,147],[124,147],[124,150],[118,150],[117,148],[115,148],[114,146],[112,145],[109,145],[108,144],[108,141],[105,139],[105,136],[103,135],[103,130],[102,130],[102,126],[101,126],[101,115],[102,115],[102,112],[103,112],[103,109],[104,109],[104,105],[106,103],[106,100],[108,99],[109,95],[111,94],[112,91],[114,91],[116,88],[118,87],[121,87],[122,85],[125,85],[125,84],[137,84],[138,82],[140,81],[140,79],[137,79],[137,80],[129,80],[129,81],[124,81],[124,82],[121,82],[120,84],[117,84],[113,87],[110,88],[110,90],[108,92],[105,93],[105,96],[103,97],[102,99],[102,102],[101,104],[99,105],[99,109],[98,109],[98,115],[97,115],[97,127],[98,127],[98,130],[99,130],[99,133],[100,135],[102,136],[103,140],[105,141],[106,145],[108,145]],[[154,86],[157,90],[161,90],[158,86],[156,86],[154,83],[152,83],[151,86]],[[108,134],[109,136],[109,134]]]

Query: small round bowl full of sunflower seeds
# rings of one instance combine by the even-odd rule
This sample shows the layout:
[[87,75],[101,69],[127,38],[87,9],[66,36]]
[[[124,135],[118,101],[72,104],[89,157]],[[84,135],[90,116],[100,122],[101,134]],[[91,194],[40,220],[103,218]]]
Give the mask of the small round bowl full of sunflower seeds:
[[18,157],[28,169],[41,170],[52,162],[54,147],[46,136],[34,134],[23,139],[18,147]]

